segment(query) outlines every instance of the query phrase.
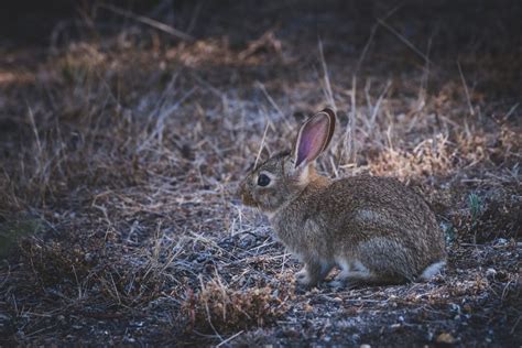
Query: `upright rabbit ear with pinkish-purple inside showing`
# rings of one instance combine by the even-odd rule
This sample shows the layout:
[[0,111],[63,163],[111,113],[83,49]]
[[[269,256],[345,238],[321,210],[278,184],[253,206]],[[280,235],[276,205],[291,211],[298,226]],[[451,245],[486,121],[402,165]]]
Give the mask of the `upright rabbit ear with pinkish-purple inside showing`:
[[324,109],[301,126],[294,145],[295,167],[307,164],[328,146],[335,130],[335,112]]

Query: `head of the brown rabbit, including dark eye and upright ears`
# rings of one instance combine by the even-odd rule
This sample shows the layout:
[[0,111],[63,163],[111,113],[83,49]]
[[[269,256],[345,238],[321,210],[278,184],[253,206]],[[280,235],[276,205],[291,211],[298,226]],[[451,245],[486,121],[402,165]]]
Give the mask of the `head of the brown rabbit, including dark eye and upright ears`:
[[271,156],[241,182],[239,195],[243,204],[270,215],[314,182],[318,177],[314,161],[327,149],[335,122],[331,109],[324,109],[306,120],[300,128],[292,151]]

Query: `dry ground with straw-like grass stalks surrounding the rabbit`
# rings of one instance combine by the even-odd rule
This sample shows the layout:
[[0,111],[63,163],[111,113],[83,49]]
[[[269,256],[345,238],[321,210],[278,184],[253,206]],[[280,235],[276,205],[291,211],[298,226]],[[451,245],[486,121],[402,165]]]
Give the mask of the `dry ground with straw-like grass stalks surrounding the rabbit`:
[[[86,3],[0,41],[1,346],[522,344],[521,3]],[[435,210],[433,281],[301,289],[241,206],[325,106],[320,172]]]

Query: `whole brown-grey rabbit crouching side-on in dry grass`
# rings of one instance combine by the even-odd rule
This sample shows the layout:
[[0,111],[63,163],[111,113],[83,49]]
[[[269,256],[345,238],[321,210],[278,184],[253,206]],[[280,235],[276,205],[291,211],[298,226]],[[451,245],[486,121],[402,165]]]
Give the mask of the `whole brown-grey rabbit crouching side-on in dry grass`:
[[325,109],[300,129],[292,152],[258,165],[241,183],[246,205],[265,213],[278,238],[304,262],[313,286],[338,265],[331,285],[398,284],[429,279],[445,264],[444,236],[424,199],[399,181],[355,176],[331,181],[314,161],[334,134]]

